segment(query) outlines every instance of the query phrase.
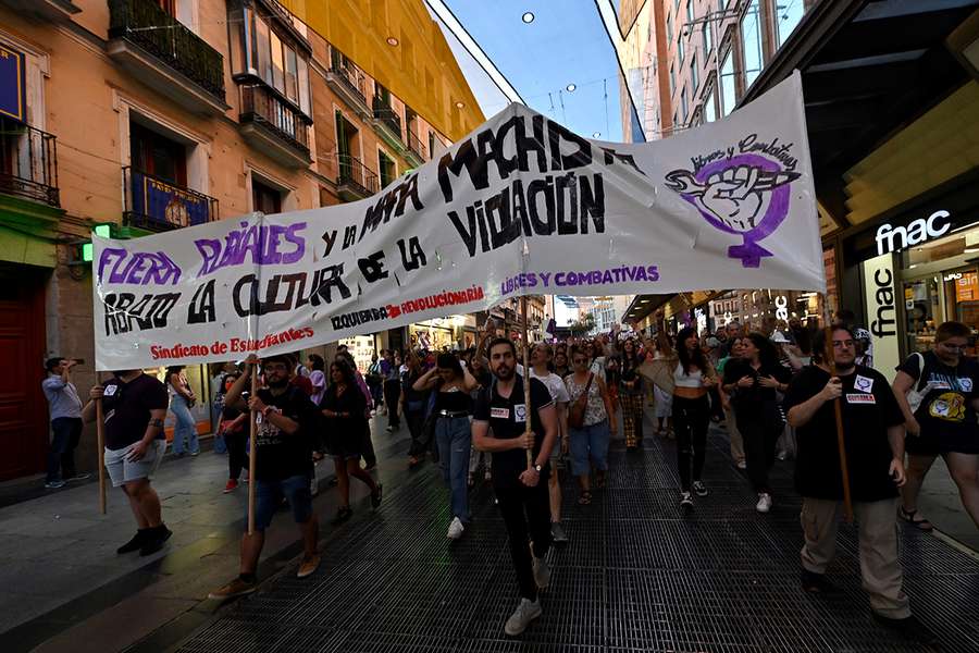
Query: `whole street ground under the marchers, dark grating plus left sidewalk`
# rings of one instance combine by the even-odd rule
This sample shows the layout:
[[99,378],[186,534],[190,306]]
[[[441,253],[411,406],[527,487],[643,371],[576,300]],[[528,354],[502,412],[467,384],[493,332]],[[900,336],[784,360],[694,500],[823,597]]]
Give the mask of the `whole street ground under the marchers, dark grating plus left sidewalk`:
[[[104,517],[98,515],[95,484],[0,508],[0,651],[511,650],[501,624],[515,605],[513,579],[492,493],[478,489],[473,527],[462,542],[449,545],[447,493],[436,469],[425,465],[408,472],[407,433],[402,427],[389,434],[385,424],[386,418],[375,418],[382,509],[372,513],[365,490],[355,483],[357,515],[334,529],[326,521],[336,507],[335,491],[322,492],[315,509],[324,562],[308,582],[293,578],[300,549],[292,520],[281,514],[268,531],[261,593],[227,606],[206,600],[208,591],[237,574],[244,525],[245,485],[235,494],[221,493],[224,456],[208,452],[164,463],[154,485],[174,537],[166,550],[147,558],[114,553],[134,528],[119,491],[110,492]],[[646,432],[652,432],[648,421]],[[714,493],[698,501],[693,519],[680,519],[673,459],[668,441],[647,439],[637,456],[614,444],[609,489],[587,509],[573,504],[573,489],[565,483],[572,544],[553,556],[548,612],[528,636],[540,644],[535,650],[914,650],[863,619],[866,601],[855,576],[851,529],[843,529],[841,559],[832,570],[847,588],[847,600],[827,612],[796,595],[801,542],[791,463],[776,469],[774,510],[758,516],[722,431],[714,431],[706,477]],[[318,476],[325,490],[332,465],[321,464]],[[941,463],[925,495],[922,509],[940,527],[958,525],[961,540],[975,538],[967,516],[968,523],[962,523],[957,493]],[[968,613],[956,621],[964,630],[950,636],[959,644],[951,650],[969,650],[963,642],[979,650],[975,611],[963,603],[979,591],[976,554],[941,534],[905,529],[904,535],[916,609],[938,606],[934,614],[919,613],[932,626],[942,625],[942,611]],[[730,578],[747,584],[734,587]],[[822,632],[805,645],[789,638],[797,648],[781,649],[772,643],[778,639],[766,639],[774,637],[770,633],[722,627],[734,618],[729,605],[743,605],[759,623],[791,632],[858,626],[858,639],[870,648],[847,649]],[[815,616],[800,625],[792,611],[809,609]],[[283,627],[312,648],[284,638]]]

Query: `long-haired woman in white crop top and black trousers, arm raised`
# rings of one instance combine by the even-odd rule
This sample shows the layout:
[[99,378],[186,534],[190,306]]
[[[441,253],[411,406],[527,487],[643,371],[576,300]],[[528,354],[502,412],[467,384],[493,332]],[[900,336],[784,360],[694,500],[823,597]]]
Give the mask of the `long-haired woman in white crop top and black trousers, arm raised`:
[[717,385],[717,372],[701,350],[701,341],[693,326],[680,330],[677,334],[677,349],[673,350],[662,317],[659,316],[657,321],[657,347],[662,358],[654,364],[667,366],[668,373],[660,377],[666,379],[662,390],[672,394],[677,466],[680,472],[680,509],[691,513],[691,490],[697,496],[707,496],[707,486],[701,477],[704,472],[707,428],[710,423],[710,401],[707,395],[710,387]]

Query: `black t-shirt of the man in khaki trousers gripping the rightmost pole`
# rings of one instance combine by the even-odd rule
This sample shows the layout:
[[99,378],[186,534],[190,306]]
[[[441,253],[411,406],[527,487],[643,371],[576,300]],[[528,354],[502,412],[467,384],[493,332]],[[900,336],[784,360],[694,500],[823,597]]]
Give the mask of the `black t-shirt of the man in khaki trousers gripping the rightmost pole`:
[[[819,394],[829,380],[829,372],[815,365],[803,369],[789,384],[785,412]],[[840,377],[840,380],[843,383],[840,404],[853,500],[881,501],[897,496],[897,486],[889,472],[894,455],[888,442],[888,428],[904,423],[904,415],[894,391],[883,374],[863,366],[856,366],[854,373]],[[795,434],[798,441],[795,464],[798,493],[813,498],[843,498],[833,402],[825,403],[808,423],[795,430]]]

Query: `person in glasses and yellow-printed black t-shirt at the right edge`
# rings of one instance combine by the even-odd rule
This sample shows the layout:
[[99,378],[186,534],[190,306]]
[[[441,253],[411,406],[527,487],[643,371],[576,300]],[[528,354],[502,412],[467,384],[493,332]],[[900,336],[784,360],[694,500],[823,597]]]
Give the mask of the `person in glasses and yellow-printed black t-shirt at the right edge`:
[[[979,364],[965,357],[971,331],[962,322],[944,322],[934,333],[934,349],[912,354],[897,367],[894,393],[907,428],[907,484],[897,515],[920,530],[931,522],[918,514],[918,493],[925,475],[941,455],[962,504],[979,526]],[[907,395],[921,397],[915,410]]]

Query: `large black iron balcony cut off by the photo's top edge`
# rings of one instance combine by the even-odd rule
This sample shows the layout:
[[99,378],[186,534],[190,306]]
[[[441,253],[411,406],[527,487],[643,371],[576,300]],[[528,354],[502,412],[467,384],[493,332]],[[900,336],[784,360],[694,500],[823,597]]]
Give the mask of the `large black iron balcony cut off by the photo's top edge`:
[[110,57],[183,107],[223,114],[224,58],[153,0],[109,0]]

